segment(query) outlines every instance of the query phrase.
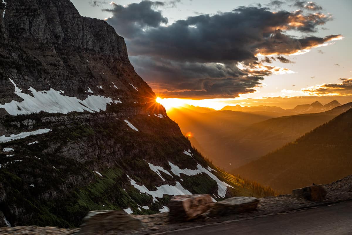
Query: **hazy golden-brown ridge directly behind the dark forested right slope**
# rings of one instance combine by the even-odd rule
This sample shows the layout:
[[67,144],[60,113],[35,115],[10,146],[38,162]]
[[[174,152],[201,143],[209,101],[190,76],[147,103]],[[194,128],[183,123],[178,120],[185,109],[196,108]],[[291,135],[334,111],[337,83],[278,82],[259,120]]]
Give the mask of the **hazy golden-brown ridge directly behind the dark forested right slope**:
[[350,109],[351,106],[352,103],[348,103],[326,112],[268,119],[222,138],[221,143],[226,149],[232,149],[235,152],[234,157],[241,165],[296,140]]

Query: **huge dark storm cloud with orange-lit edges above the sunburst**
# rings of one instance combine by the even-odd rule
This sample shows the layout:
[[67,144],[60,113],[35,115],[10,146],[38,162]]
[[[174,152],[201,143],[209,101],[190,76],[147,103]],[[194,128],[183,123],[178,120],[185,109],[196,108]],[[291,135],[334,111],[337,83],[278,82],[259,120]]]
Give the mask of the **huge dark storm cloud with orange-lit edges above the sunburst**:
[[[290,55],[316,47],[338,35],[295,38],[286,30],[311,33],[331,20],[322,13],[302,10],[271,12],[265,7],[239,7],[231,12],[200,14],[166,24],[156,9],[163,2],[142,1],[126,7],[113,4],[107,22],[125,37],[136,71],[152,87],[165,94],[182,96],[236,97],[254,92],[263,76],[287,72],[263,65],[277,60],[290,62]],[[260,61],[262,55],[267,56]],[[238,63],[244,68],[239,69]]]

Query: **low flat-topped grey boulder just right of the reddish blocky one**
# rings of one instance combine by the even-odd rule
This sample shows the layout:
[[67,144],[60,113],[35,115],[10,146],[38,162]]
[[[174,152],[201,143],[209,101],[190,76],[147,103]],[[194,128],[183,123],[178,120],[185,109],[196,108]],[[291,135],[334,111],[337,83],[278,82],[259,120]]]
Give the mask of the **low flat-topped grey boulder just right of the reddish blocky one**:
[[232,197],[214,203],[210,216],[226,216],[255,210],[259,200],[255,197]]

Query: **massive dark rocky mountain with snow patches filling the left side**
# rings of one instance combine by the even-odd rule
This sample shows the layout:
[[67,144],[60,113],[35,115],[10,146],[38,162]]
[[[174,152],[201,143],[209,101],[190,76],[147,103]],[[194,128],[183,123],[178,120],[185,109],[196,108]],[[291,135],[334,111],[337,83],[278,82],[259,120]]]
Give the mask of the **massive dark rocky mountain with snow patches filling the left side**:
[[0,212],[11,225],[153,214],[178,194],[273,194],[191,147],[105,21],[69,0],[12,0],[0,11]]

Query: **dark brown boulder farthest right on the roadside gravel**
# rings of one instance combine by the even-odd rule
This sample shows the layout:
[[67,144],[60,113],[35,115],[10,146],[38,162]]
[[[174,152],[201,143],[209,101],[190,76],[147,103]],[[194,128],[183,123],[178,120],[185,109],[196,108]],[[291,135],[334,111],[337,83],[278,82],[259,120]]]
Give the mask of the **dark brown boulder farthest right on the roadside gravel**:
[[310,185],[292,191],[292,197],[303,198],[312,202],[322,201],[325,196],[326,190],[322,185]]

